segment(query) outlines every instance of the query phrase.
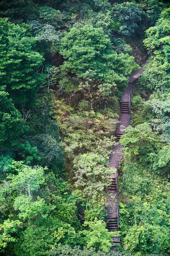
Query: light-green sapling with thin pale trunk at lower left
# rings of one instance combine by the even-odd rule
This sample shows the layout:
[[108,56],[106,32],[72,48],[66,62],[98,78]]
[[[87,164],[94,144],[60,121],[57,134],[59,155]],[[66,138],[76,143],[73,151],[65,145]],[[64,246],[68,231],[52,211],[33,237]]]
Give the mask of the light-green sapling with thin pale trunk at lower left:
[[[48,213],[54,209],[52,205],[45,203],[43,198],[38,197],[35,201],[32,197],[32,192],[40,188],[40,184],[44,182],[44,170],[41,166],[28,166],[22,164],[22,162],[13,161],[11,169],[17,172],[17,175],[8,174],[6,192],[11,193],[14,190],[18,190],[21,194],[14,199],[14,209],[19,210],[18,217],[26,220],[40,215],[47,217]],[[5,188],[1,190],[3,193]]]

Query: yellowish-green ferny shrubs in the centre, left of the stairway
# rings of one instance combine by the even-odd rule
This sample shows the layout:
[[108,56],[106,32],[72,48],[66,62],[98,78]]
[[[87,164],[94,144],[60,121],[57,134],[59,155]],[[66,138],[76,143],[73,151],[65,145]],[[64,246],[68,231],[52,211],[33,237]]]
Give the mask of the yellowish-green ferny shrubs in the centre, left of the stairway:
[[[90,108],[89,105],[89,102],[85,103],[88,108]],[[105,113],[101,114],[88,109],[82,111],[85,106],[80,105],[82,106],[80,111],[77,111],[77,114],[71,114],[73,108],[66,105],[64,101],[55,100],[53,106],[54,117],[64,135],[64,141],[69,146],[76,145],[74,150],[94,150],[98,147],[97,140],[103,140],[106,136],[111,137],[115,132],[117,120],[112,118],[117,117],[117,114],[110,109],[106,109]],[[69,116],[68,113],[70,113]]]

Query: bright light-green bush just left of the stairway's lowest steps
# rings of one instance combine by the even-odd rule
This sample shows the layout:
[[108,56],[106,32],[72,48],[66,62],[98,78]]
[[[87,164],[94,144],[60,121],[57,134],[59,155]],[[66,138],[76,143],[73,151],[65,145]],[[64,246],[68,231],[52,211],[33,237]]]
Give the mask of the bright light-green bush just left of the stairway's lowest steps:
[[113,240],[111,236],[113,236],[113,232],[108,232],[106,223],[95,219],[94,221],[85,221],[83,225],[89,228],[81,232],[85,235],[84,239],[87,243],[87,248],[95,247],[103,252],[108,252],[112,246],[111,242]]

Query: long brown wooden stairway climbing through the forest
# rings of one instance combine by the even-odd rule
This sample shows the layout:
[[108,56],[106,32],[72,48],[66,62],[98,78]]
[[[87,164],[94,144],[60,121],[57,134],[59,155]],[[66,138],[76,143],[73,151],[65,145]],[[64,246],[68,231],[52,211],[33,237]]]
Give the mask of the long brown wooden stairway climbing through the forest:
[[[132,86],[133,82],[137,80],[137,78],[142,74],[144,71],[144,64],[141,65],[141,68],[135,71],[129,77],[129,84],[124,92],[121,95],[121,115],[119,117],[119,123],[116,129],[116,142],[119,142],[122,134],[125,133],[126,127],[129,126],[130,123],[130,104],[132,98]],[[109,158],[109,166],[113,169],[116,169],[116,172],[110,176],[112,178],[111,185],[107,188],[106,195],[107,195],[107,229],[108,231],[118,231],[119,230],[119,190],[117,189],[117,176],[118,176],[118,166],[120,160],[122,158],[122,150],[123,145],[120,143],[114,146],[114,154],[110,155]],[[114,249],[115,244],[120,244],[120,237],[114,236],[113,239],[113,246],[111,250]]]

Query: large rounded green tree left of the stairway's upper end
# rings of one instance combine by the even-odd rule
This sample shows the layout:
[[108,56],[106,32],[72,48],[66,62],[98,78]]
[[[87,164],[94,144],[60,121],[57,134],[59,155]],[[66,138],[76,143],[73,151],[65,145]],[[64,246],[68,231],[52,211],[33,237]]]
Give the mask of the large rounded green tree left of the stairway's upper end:
[[[101,84],[105,84],[103,87],[106,88],[112,85],[113,89],[118,85],[123,87],[127,83],[125,75],[137,67],[132,56],[114,53],[110,39],[103,33],[103,29],[92,25],[71,28],[61,40],[60,53],[65,58],[61,70],[76,73],[89,83],[96,79],[101,81],[102,83],[93,85],[96,91],[101,91]],[[103,95],[111,93],[106,88],[101,91]]]

